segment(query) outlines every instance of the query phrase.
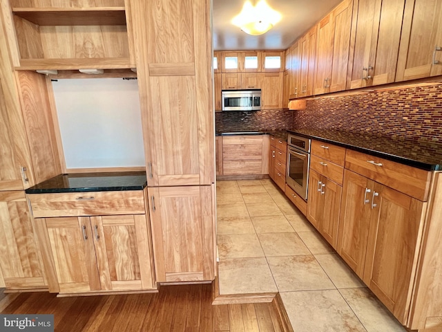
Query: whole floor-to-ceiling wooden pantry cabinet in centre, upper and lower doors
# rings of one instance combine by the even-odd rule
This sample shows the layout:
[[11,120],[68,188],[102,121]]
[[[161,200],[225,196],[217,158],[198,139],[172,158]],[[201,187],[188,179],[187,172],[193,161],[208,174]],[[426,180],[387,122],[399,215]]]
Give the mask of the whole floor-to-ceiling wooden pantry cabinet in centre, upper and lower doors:
[[131,0],[157,282],[215,273],[210,9]]

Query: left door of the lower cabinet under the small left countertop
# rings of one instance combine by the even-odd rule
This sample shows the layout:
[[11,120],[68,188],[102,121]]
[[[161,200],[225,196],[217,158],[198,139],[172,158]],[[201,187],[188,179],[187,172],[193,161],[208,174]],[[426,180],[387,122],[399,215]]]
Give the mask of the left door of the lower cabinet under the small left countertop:
[[60,293],[101,289],[88,217],[46,218]]

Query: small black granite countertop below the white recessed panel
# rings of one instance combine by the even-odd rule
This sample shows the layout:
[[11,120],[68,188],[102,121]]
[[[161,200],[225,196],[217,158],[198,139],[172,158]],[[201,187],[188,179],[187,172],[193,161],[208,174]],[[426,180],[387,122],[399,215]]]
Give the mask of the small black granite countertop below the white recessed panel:
[[143,190],[146,172],[60,174],[26,190],[26,194]]

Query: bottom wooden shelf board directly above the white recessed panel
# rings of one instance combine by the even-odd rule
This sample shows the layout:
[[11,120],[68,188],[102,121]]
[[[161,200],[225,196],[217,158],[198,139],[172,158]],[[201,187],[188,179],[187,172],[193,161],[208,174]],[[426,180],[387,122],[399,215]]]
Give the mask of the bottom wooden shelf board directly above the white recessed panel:
[[124,69],[134,68],[129,58],[93,57],[79,59],[21,59],[17,71],[36,71],[44,69]]

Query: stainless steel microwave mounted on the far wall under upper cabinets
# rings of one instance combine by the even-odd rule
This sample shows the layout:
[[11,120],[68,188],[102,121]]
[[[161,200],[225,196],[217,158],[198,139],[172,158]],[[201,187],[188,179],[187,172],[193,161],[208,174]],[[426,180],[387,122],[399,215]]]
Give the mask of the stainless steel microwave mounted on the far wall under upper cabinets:
[[222,111],[259,111],[261,90],[223,90]]

